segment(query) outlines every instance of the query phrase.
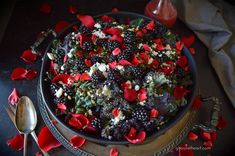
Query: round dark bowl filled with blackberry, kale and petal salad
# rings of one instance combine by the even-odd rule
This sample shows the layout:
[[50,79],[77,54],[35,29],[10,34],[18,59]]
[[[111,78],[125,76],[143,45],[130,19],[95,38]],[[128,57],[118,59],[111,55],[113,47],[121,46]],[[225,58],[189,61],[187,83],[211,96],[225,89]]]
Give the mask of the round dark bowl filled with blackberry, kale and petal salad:
[[101,144],[157,139],[190,109],[196,65],[179,37],[136,13],[78,16],[49,44],[40,73],[48,111]]

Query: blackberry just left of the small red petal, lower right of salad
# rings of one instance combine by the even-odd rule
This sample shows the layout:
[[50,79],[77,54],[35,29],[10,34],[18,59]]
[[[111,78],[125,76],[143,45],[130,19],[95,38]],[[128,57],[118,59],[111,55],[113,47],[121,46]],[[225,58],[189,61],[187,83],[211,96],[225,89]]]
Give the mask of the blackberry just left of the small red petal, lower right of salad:
[[149,120],[149,113],[144,107],[135,108],[131,116],[132,116],[132,119],[135,119],[141,122],[146,122]]

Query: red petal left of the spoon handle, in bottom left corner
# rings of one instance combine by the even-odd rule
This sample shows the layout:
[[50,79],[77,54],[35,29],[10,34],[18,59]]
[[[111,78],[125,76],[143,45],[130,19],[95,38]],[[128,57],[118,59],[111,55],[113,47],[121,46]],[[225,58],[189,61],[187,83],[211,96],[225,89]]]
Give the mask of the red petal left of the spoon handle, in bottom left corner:
[[22,150],[24,148],[24,137],[21,134],[16,134],[10,140],[7,140],[7,145],[15,150]]

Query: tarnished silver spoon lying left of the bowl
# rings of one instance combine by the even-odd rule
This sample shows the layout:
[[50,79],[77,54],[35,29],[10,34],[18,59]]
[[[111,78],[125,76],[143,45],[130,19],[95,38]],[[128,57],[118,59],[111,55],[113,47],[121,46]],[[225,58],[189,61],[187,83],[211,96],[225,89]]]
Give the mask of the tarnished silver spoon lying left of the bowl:
[[27,154],[27,137],[37,124],[37,114],[33,102],[22,96],[16,107],[15,123],[17,129],[24,134],[24,156]]

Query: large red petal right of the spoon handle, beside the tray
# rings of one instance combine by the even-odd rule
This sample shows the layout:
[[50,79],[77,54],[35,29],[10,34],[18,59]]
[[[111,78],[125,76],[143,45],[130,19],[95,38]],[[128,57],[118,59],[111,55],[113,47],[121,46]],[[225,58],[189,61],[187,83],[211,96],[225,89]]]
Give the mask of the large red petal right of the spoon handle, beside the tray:
[[38,145],[44,151],[49,151],[53,148],[59,147],[61,143],[55,139],[50,130],[45,126],[38,134]]

